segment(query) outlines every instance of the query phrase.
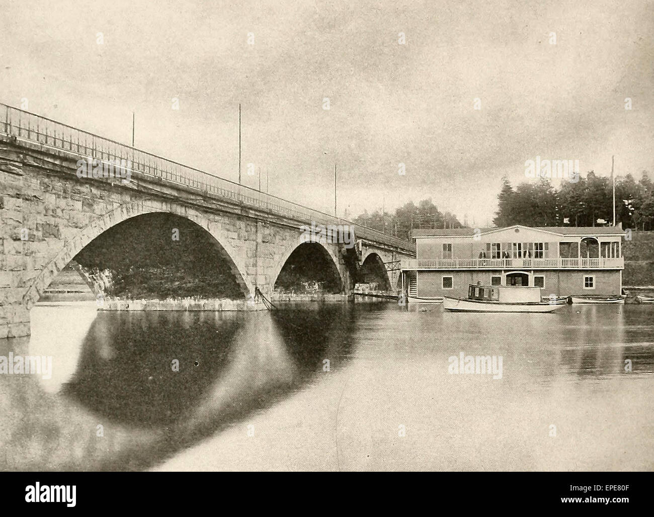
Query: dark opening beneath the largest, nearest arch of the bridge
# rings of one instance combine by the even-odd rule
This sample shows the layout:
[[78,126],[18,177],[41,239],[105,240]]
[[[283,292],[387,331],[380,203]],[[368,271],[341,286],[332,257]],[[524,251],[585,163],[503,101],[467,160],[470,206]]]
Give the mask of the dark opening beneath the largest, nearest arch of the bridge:
[[58,286],[71,282],[73,271],[94,297],[243,299],[249,293],[220,242],[196,222],[169,212],[139,214],[99,233],[54,272],[40,299],[57,299]]

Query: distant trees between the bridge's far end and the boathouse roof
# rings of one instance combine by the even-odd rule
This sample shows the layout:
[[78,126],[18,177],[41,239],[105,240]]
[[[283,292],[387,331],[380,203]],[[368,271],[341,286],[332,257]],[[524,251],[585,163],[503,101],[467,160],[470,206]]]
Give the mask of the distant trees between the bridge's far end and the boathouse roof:
[[354,219],[356,224],[386,231],[402,239],[408,239],[409,232],[414,228],[460,228],[462,224],[450,212],[441,213],[432,199],[423,199],[417,206],[410,201],[395,213],[375,210],[372,214],[364,212]]

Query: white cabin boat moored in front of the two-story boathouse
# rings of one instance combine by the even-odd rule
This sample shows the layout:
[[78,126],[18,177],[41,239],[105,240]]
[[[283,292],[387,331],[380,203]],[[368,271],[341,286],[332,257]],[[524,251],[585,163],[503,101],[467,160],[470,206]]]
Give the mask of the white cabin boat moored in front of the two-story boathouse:
[[542,301],[540,288],[470,284],[467,298],[443,297],[443,309],[453,312],[553,312],[565,300]]

